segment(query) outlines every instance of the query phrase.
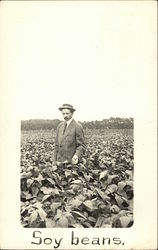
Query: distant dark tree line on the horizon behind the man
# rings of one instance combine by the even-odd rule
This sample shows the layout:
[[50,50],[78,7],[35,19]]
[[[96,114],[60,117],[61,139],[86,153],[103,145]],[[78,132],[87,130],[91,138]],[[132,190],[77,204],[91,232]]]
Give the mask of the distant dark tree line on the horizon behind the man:
[[[61,121],[58,119],[44,120],[31,119],[21,121],[21,130],[56,130]],[[88,121],[80,122],[84,129],[133,129],[133,118],[119,118],[110,117],[102,121]]]

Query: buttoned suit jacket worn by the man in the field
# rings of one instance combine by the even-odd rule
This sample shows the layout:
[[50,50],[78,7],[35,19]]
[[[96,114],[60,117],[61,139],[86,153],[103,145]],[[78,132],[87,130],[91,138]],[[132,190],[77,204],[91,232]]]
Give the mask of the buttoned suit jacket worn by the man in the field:
[[64,123],[65,122],[61,122],[57,127],[54,161],[63,162],[67,160],[71,162],[74,154],[76,154],[80,160],[85,149],[83,128],[81,124],[73,119],[63,134]]

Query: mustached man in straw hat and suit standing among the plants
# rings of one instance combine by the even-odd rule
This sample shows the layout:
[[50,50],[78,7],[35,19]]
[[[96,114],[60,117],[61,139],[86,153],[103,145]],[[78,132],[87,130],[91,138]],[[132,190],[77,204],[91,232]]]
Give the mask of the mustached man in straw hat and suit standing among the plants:
[[77,164],[85,149],[83,128],[73,119],[75,109],[72,105],[63,104],[59,110],[65,121],[57,127],[53,165]]

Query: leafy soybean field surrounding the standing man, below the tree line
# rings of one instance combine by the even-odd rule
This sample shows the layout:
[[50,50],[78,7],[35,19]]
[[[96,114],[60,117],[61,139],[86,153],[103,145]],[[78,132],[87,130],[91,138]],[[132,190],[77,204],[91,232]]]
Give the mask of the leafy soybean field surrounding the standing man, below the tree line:
[[133,224],[133,130],[86,129],[77,165],[52,168],[55,131],[22,131],[24,227],[130,227]]

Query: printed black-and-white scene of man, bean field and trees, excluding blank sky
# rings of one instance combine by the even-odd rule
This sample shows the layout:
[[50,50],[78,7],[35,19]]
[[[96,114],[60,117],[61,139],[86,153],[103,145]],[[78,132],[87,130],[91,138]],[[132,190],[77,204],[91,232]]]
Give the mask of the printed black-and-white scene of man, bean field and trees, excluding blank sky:
[[62,122],[21,124],[22,225],[132,226],[133,119],[78,123],[72,105],[59,110]]

